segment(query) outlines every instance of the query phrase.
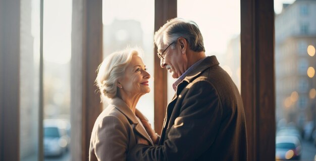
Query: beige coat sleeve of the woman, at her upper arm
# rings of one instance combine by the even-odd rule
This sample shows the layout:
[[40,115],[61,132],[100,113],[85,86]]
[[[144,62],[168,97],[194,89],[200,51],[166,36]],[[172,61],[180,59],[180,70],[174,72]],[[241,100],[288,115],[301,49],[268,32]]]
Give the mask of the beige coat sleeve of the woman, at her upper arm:
[[95,135],[94,153],[97,160],[126,160],[128,133],[119,118],[104,117]]

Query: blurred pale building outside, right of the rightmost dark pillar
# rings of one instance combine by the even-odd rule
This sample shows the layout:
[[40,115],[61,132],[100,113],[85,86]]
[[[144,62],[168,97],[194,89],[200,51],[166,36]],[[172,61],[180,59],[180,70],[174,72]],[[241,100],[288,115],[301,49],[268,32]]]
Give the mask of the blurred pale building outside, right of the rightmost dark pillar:
[[316,0],[284,4],[275,16],[276,121],[315,122]]

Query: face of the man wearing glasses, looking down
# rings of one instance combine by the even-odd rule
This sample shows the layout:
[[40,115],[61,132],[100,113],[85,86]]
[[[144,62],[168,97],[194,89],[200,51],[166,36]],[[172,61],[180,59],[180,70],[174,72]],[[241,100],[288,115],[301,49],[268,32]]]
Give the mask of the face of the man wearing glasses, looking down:
[[179,43],[176,40],[170,45],[160,41],[157,45],[158,53],[163,56],[163,58],[160,57],[160,65],[172,73],[173,78],[179,78],[185,72],[187,66],[186,55],[183,54]]

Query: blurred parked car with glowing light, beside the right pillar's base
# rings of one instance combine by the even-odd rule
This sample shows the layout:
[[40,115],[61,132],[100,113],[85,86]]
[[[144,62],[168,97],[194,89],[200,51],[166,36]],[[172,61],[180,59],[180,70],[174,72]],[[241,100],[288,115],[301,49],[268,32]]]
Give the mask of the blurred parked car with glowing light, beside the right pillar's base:
[[301,143],[296,136],[276,137],[277,160],[299,160],[301,157]]

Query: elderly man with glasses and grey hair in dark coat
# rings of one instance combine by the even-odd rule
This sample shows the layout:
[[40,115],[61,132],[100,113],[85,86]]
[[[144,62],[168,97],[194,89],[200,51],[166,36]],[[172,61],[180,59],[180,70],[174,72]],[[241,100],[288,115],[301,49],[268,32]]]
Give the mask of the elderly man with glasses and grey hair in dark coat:
[[[193,21],[169,20],[154,36],[161,67],[177,78],[155,146],[139,139],[128,160],[247,160],[245,115],[239,91],[215,56],[205,57]],[[148,123],[144,121],[148,128]],[[152,129],[151,129],[152,130]]]

